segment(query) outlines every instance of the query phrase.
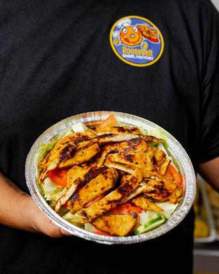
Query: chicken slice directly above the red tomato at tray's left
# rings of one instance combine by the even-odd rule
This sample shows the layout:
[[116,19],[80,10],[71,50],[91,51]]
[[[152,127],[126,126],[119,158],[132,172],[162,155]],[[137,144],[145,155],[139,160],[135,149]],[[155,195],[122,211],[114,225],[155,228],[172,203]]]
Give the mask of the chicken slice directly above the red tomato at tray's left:
[[73,166],[75,164],[81,164],[83,162],[88,162],[91,160],[97,153],[99,153],[99,145],[97,142],[90,141],[83,147],[79,147],[73,155],[73,157],[68,158],[65,161],[60,162],[58,167],[60,169],[67,167],[67,166]]

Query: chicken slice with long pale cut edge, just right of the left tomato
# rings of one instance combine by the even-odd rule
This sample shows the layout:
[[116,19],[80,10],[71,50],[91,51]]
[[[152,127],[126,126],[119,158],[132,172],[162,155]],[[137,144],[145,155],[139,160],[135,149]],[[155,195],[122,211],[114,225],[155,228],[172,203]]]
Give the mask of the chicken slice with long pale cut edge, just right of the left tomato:
[[[80,184],[87,184],[95,175],[97,176],[99,174],[94,174],[94,169],[95,168],[92,168],[91,166],[83,168],[81,166],[73,166],[73,168],[68,171],[67,188],[65,188],[65,191],[62,192],[61,196],[57,197],[57,200],[55,201],[55,212],[58,212],[61,206],[70,199]],[[101,169],[101,171],[102,170],[103,169]]]

